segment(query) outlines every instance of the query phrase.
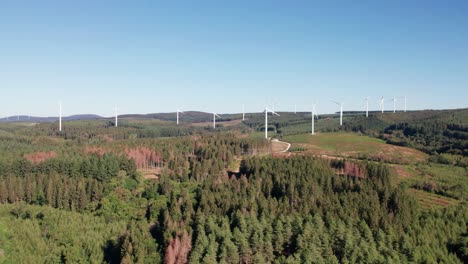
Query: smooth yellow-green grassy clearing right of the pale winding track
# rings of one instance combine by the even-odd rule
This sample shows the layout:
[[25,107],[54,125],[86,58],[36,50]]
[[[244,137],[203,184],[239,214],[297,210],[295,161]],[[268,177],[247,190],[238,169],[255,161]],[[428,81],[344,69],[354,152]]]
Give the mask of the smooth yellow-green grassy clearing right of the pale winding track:
[[415,164],[426,160],[418,150],[385,144],[384,141],[357,133],[318,133],[286,136],[292,147],[305,148],[315,155],[370,159],[398,164]]

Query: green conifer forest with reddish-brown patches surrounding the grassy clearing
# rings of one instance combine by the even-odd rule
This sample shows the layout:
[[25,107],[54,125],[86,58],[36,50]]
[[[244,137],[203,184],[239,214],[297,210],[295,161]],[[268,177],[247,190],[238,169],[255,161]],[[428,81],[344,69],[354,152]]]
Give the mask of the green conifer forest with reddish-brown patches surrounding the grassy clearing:
[[[465,114],[317,121],[418,149],[417,164],[279,155],[260,114],[216,129],[0,123],[0,263],[467,263]],[[308,122],[282,115],[269,131]]]

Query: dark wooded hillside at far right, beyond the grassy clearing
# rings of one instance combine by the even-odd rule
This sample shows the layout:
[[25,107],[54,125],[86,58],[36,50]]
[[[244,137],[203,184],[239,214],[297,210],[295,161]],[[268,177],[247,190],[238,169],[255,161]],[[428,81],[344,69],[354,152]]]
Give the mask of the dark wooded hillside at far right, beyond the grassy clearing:
[[363,132],[429,154],[468,155],[468,109],[379,113],[347,119],[344,130]]

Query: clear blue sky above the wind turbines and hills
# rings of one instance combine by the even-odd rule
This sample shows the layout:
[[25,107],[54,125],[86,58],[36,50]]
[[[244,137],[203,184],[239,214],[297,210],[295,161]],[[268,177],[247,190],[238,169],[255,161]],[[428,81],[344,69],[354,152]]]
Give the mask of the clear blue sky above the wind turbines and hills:
[[101,115],[468,107],[468,1],[3,0],[0,91],[0,116],[58,100]]

